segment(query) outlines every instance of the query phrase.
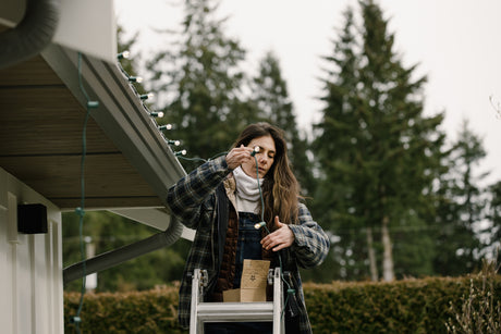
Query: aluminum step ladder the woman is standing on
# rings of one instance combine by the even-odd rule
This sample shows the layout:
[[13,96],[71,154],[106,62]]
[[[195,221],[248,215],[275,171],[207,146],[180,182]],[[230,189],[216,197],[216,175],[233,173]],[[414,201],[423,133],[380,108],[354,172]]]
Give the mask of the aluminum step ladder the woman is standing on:
[[206,270],[195,269],[192,283],[190,334],[203,334],[206,322],[272,322],[273,334],[285,333],[282,317],[282,282],[280,268],[270,269],[268,284],[273,284],[273,301],[203,302],[207,287]]

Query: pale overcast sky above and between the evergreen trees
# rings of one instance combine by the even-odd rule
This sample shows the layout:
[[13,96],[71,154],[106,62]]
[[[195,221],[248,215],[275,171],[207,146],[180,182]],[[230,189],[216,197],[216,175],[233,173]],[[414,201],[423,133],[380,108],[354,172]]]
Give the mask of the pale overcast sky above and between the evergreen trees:
[[[390,18],[395,51],[405,66],[419,63],[427,75],[425,114],[445,111],[443,128],[455,139],[462,120],[481,136],[488,158],[479,168],[492,171],[488,183],[501,180],[501,117],[489,98],[501,103],[500,0],[376,0]],[[179,27],[181,0],[115,0],[118,22],[126,33],[140,32],[143,55],[161,38],[154,28]],[[347,5],[356,0],[223,0],[227,36],[247,50],[249,72],[265,52],[273,51],[289,85],[297,120],[309,128],[322,104],[318,77],[321,55],[332,53],[331,40],[343,25]]]

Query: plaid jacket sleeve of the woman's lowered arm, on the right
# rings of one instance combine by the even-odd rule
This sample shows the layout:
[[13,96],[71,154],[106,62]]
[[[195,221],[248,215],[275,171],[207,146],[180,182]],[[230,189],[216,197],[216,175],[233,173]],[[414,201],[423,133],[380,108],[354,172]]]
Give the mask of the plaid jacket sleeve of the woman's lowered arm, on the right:
[[329,252],[329,237],[313,220],[308,208],[303,203],[300,203],[298,221],[297,225],[289,225],[295,238],[291,246],[292,253],[297,263],[305,269],[319,265]]

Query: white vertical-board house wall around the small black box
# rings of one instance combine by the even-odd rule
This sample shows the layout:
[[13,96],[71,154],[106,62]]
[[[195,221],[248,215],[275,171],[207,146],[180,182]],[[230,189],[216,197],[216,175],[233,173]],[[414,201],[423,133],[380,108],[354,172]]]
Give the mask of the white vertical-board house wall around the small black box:
[[[48,233],[17,233],[17,205],[47,207]],[[12,334],[63,334],[61,212],[0,169],[0,323]]]

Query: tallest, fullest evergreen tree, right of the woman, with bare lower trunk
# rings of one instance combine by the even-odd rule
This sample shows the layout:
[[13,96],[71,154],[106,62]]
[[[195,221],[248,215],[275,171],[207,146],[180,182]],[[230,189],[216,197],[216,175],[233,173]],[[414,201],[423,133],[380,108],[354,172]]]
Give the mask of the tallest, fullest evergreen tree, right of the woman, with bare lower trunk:
[[[431,270],[429,234],[416,236],[411,231],[426,227],[425,218],[432,209],[430,194],[444,139],[438,126],[443,115],[423,115],[426,78],[414,79],[415,66],[401,64],[394,35],[388,32],[379,7],[370,0],[359,3],[361,40],[351,33],[354,21],[349,12],[330,59],[338,72],[329,73],[326,83],[327,107],[317,126],[316,152],[326,178],[320,184],[331,189],[323,188],[318,195],[325,199],[326,215],[342,233],[340,255],[349,265],[346,275],[362,279],[370,274],[372,280],[382,275],[391,281],[395,261],[400,275]],[[395,231],[407,233],[394,238]],[[393,249],[403,253],[401,249],[413,245],[410,242],[421,243],[430,251],[420,253],[414,263],[394,256]],[[379,249],[382,253],[377,253]],[[366,263],[370,272],[364,270]]]

